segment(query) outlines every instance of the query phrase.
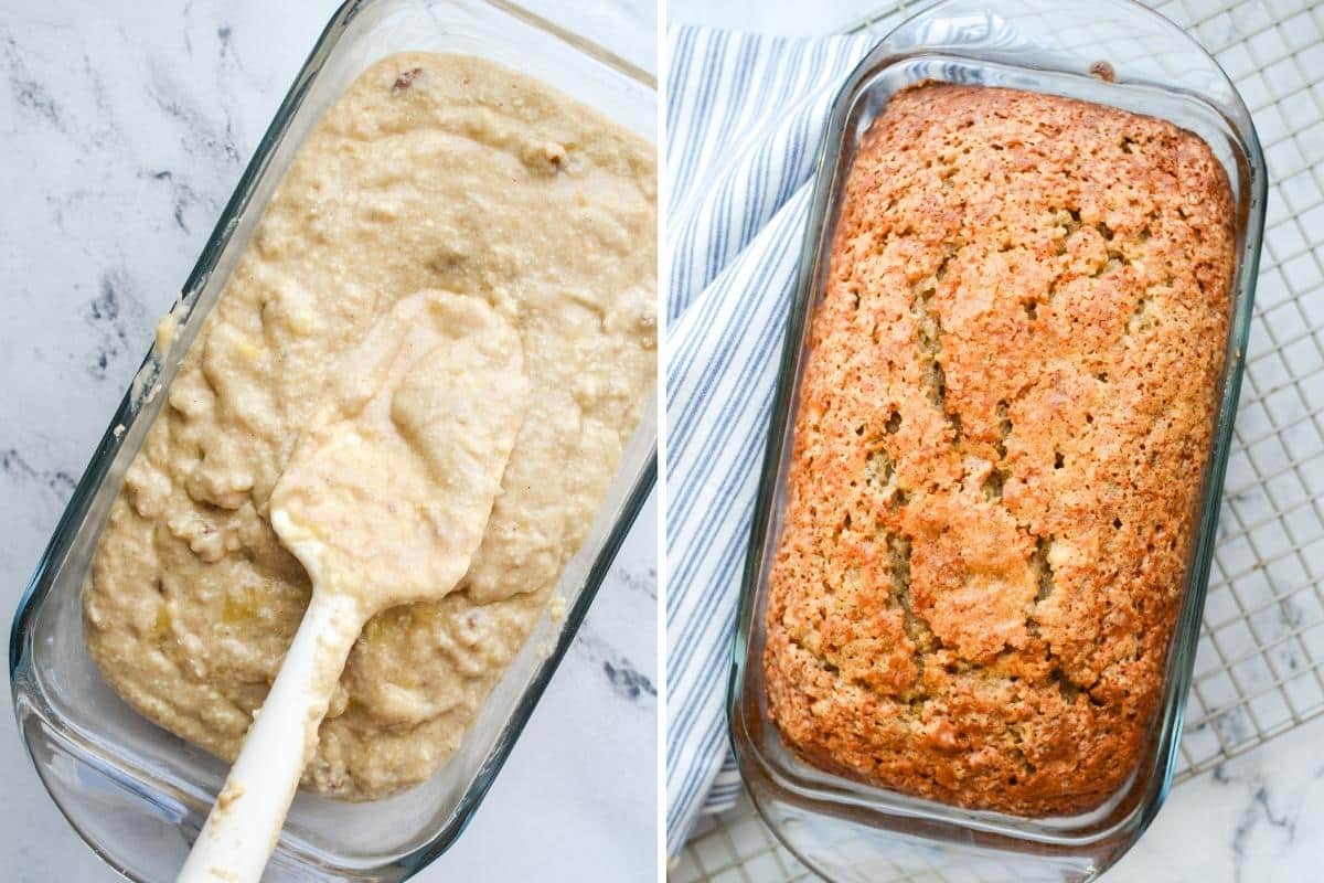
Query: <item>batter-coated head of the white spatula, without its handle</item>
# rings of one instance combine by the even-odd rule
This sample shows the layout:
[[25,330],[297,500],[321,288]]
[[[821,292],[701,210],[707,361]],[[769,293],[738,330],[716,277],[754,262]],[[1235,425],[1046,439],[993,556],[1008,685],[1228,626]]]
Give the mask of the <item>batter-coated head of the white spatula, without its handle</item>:
[[318,590],[371,613],[459,582],[524,420],[523,363],[506,318],[444,291],[399,301],[346,353],[270,502]]

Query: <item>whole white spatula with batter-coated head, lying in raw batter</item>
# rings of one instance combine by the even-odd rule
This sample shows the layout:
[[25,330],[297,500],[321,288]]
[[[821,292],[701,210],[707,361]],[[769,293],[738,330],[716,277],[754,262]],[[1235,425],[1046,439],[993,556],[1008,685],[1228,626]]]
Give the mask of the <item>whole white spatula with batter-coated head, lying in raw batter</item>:
[[519,335],[486,302],[424,291],[339,363],[324,397],[270,499],[312,600],[181,882],[261,878],[364,624],[469,569],[528,383]]

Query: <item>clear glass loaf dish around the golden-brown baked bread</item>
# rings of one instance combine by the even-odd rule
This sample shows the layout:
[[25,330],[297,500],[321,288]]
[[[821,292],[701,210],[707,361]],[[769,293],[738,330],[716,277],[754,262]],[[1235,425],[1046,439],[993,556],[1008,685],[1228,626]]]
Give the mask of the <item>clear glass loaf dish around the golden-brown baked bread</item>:
[[[1186,585],[1168,647],[1161,707],[1127,785],[1100,808],[1079,815],[1021,818],[964,810],[825,773],[797,759],[768,719],[761,665],[768,573],[785,502],[806,330],[824,289],[833,229],[857,144],[890,95],[920,81],[1009,86],[1170,119],[1210,144],[1227,171],[1237,207],[1226,368],[1215,391],[1213,447]],[[1264,200],[1259,140],[1231,82],[1180,28],[1131,0],[945,0],[900,24],[842,86],[818,156],[727,695],[732,744],[755,805],[777,837],[824,878],[870,883],[1088,880],[1116,862],[1153,819],[1172,782],[1209,581]]]

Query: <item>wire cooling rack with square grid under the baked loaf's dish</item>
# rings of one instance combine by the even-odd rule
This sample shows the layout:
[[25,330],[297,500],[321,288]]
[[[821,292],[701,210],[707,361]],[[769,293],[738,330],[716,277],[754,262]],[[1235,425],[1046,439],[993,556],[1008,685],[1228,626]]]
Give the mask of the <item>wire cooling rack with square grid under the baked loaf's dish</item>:
[[[849,30],[882,37],[923,5],[892,3]],[[1324,715],[1324,3],[1151,5],[1237,83],[1270,177],[1181,782]],[[670,874],[673,883],[809,879],[744,796],[700,822]]]

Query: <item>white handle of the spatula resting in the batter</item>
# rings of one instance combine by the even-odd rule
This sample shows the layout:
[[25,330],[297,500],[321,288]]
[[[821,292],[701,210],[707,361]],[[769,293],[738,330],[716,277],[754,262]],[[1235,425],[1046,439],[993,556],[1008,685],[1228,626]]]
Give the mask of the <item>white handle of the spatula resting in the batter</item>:
[[261,879],[363,622],[355,598],[314,590],[281,673],[249,727],[179,883]]

